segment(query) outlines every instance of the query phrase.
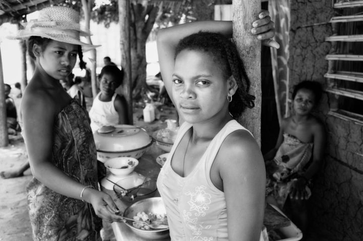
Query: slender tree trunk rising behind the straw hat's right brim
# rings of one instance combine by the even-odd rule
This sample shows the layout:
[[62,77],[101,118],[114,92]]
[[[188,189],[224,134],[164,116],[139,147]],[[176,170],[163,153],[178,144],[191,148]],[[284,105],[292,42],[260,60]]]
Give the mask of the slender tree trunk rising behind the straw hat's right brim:
[[[90,29],[90,19],[91,19],[91,8],[93,6],[93,0],[82,0],[82,10],[85,18],[85,27],[86,29]],[[86,37],[89,44],[92,44],[91,36]],[[92,88],[92,97],[95,98],[97,96],[97,75],[96,75],[96,49],[92,49],[91,51],[91,88]]]

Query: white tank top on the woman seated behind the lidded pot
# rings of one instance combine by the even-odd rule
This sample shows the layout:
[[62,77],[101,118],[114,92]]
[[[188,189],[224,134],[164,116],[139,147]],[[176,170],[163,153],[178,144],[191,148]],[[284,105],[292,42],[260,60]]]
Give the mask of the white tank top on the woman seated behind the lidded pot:
[[117,94],[114,93],[111,101],[108,102],[100,101],[100,94],[101,92],[93,100],[92,107],[89,111],[92,132],[95,132],[102,126],[118,124],[118,113],[114,108],[114,100]]

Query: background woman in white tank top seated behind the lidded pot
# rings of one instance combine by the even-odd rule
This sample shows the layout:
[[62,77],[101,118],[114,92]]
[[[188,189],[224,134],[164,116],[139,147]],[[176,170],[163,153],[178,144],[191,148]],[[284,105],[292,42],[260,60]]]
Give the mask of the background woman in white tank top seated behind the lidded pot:
[[123,78],[124,71],[115,65],[106,65],[102,68],[99,74],[101,91],[94,98],[89,111],[93,132],[102,126],[129,124],[126,99],[115,93]]

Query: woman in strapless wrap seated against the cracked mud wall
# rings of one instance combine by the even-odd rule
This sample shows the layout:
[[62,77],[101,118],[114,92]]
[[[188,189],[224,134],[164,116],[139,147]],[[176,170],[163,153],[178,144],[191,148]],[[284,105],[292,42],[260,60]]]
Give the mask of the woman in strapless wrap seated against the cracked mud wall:
[[303,232],[307,224],[306,200],[311,195],[310,180],[324,156],[325,128],[312,115],[321,96],[318,82],[302,81],[295,86],[292,115],[281,121],[276,146],[264,155],[266,201],[284,209]]

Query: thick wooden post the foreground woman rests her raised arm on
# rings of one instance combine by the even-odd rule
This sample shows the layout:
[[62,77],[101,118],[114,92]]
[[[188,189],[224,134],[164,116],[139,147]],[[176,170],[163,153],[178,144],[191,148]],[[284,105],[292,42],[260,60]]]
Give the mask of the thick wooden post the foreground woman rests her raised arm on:
[[261,41],[252,35],[252,22],[258,19],[261,0],[233,0],[233,39],[251,81],[255,107],[246,109],[239,123],[249,129],[261,145]]

